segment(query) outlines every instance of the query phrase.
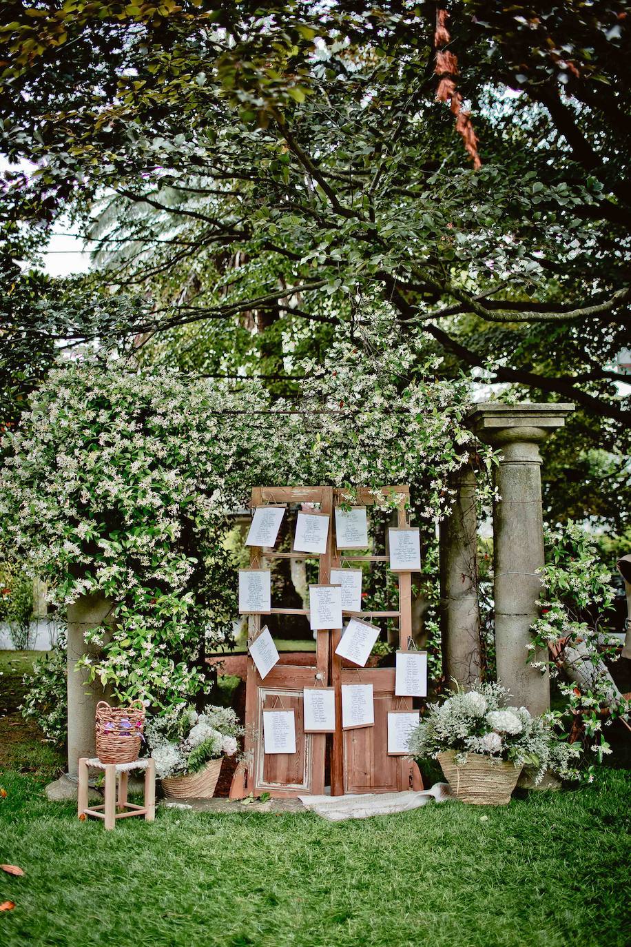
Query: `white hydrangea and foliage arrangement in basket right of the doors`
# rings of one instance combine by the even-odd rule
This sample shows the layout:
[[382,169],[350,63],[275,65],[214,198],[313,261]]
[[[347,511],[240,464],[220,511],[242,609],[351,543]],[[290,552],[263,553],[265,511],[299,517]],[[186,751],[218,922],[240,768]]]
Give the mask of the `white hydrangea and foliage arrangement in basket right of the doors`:
[[457,764],[464,765],[468,753],[479,753],[532,767],[535,783],[547,769],[562,777],[575,776],[570,759],[580,749],[559,740],[552,714],[533,717],[526,707],[506,706],[509,692],[495,683],[449,694],[443,704],[430,704],[425,720],[412,731],[408,746],[413,758],[436,759],[451,750]]

